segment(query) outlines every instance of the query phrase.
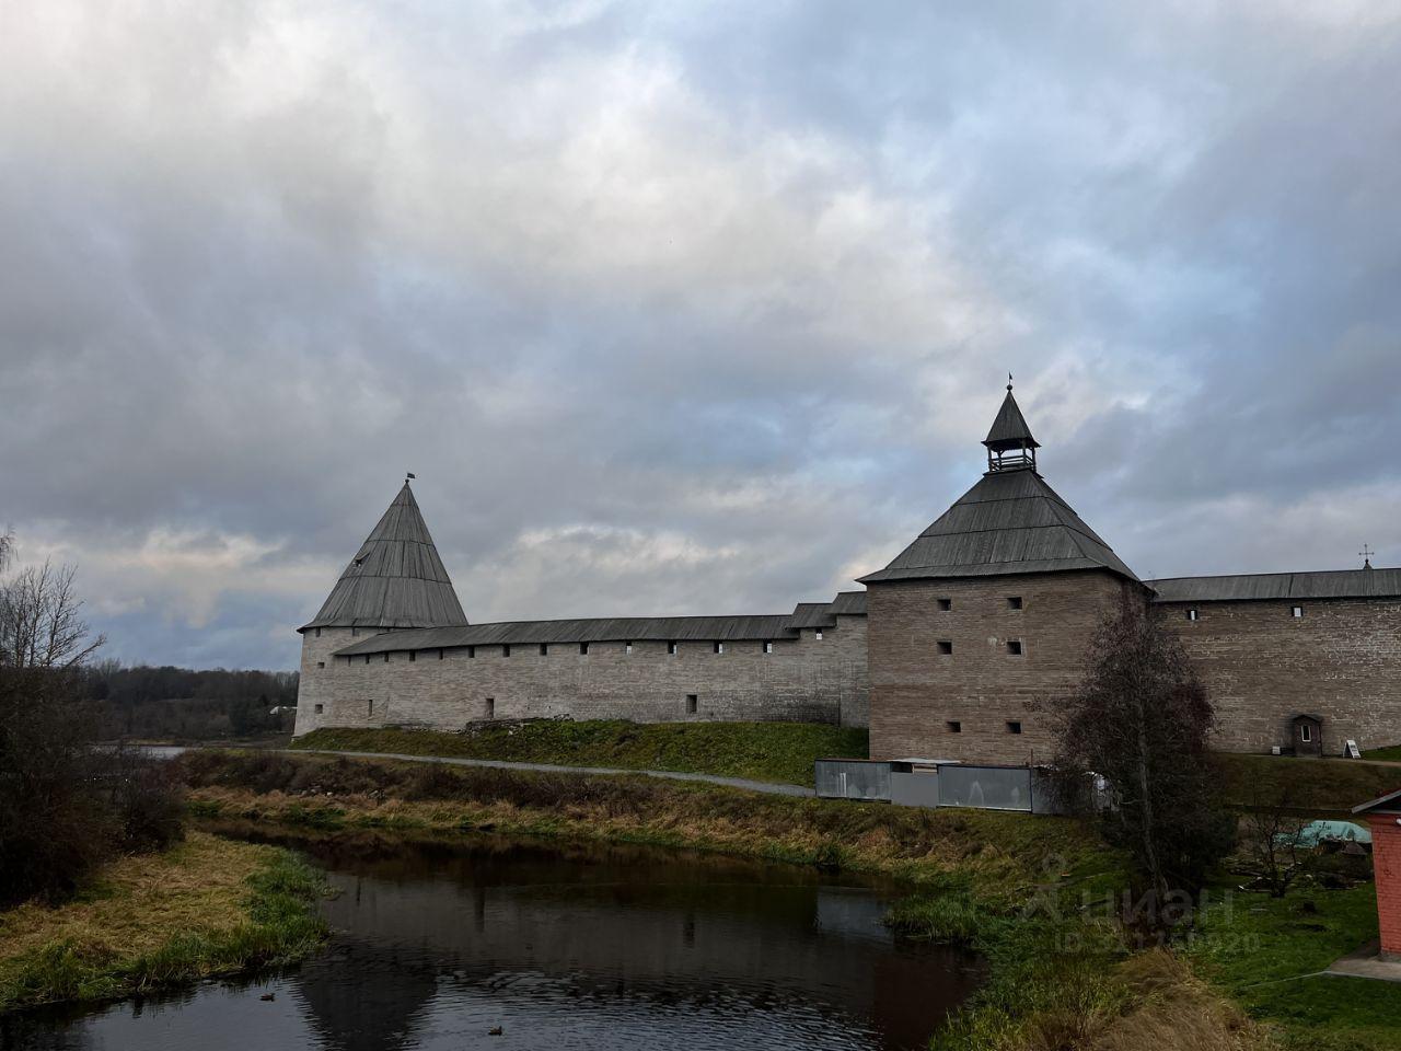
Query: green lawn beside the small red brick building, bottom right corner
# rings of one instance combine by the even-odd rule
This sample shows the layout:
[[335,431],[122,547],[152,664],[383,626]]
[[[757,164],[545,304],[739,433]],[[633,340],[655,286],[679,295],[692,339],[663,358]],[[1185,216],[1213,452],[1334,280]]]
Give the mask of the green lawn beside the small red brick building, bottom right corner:
[[[1401,1048],[1401,985],[1310,975],[1377,936],[1370,883],[1234,894],[1208,908],[1187,949],[1202,977],[1278,1027],[1283,1047]],[[1268,982],[1268,984],[1264,984]]]

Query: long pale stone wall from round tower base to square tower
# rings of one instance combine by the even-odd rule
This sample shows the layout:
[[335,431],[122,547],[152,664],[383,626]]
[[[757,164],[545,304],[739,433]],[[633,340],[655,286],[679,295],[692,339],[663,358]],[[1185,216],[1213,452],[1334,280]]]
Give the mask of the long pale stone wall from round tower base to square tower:
[[[349,629],[303,638],[297,733],[318,726],[423,726],[461,730],[497,719],[794,720],[864,726],[869,717],[866,618],[839,617],[817,639],[759,642],[594,642],[419,650],[333,657],[354,642]],[[363,632],[361,632],[363,635]],[[325,663],[325,667],[319,667]],[[688,695],[695,695],[695,712]],[[317,712],[317,705],[321,710]]]

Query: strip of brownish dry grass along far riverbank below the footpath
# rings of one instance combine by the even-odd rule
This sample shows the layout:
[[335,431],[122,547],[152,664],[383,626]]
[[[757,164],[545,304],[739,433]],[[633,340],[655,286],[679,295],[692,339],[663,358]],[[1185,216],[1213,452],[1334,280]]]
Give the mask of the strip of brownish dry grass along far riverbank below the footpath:
[[191,753],[199,814],[310,828],[495,831],[887,873],[1012,907],[1051,880],[1114,881],[1119,859],[1075,821],[992,810],[761,796],[646,776],[525,774],[321,755]]

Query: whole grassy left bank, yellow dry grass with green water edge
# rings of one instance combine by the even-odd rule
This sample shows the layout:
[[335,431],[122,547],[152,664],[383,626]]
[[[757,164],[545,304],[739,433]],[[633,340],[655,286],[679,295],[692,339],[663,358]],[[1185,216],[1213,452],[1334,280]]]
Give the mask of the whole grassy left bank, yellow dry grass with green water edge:
[[0,1012],[291,963],[325,936],[324,886],[287,851],[203,832],[123,858],[66,904],[0,912]]

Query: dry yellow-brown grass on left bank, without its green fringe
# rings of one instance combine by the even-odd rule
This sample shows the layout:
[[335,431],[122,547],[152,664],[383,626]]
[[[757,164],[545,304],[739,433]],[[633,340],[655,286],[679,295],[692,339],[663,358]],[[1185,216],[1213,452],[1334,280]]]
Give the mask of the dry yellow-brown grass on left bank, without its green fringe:
[[0,977],[39,946],[67,940],[84,953],[116,956],[158,949],[174,930],[231,928],[245,918],[245,881],[276,851],[192,832],[164,853],[123,858],[102,869],[76,901],[29,902],[0,912]]

